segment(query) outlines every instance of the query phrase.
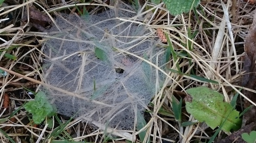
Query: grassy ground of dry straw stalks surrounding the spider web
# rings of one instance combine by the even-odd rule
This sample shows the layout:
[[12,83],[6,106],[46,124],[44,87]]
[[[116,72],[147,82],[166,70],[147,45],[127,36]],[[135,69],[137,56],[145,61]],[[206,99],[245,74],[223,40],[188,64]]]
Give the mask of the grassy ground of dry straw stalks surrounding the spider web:
[[[232,102],[233,97],[239,93],[235,105],[240,113],[246,107],[255,104],[251,94],[255,92],[253,1],[249,1],[250,3],[239,0],[201,1],[200,5],[191,9],[189,13],[177,16],[169,15],[163,3],[156,5],[148,1],[122,1],[134,8],[134,13],[140,18],[141,24],[147,24],[151,32],[147,38],[152,38],[161,48],[156,54],[160,55],[160,51],[164,51],[163,59],[167,62],[164,71],[155,67],[159,72],[164,73],[166,80],[161,86],[156,83],[156,87],[161,88],[145,110],[145,124],[140,127],[143,129],[137,127],[136,131],[125,131],[133,134],[134,138],[129,138],[127,135],[120,137],[113,135],[113,132],[96,129],[82,118],[73,119],[60,114],[44,117],[46,120],[40,124],[34,123],[31,112],[26,110],[24,105],[35,98],[33,93],[38,92],[41,86],[47,87],[47,83],[44,82],[46,80],[44,59],[47,55],[43,47],[51,38],[47,30],[54,24],[56,15],[66,13],[81,16],[86,14],[86,10],[90,15],[98,14],[109,9],[118,9],[118,5],[115,4],[117,2],[120,4],[119,1],[11,0],[2,4],[0,69],[3,73],[0,78],[2,82],[0,140],[2,142],[146,142],[147,140],[143,138],[150,136],[149,140],[152,142],[165,143],[208,142],[211,139],[215,142],[244,141],[241,139],[241,130],[224,132],[218,130],[219,127],[211,129],[206,123],[197,122],[186,110],[185,105],[189,99],[185,91],[189,88],[206,86],[221,93],[224,101],[228,103]],[[140,12],[139,6],[143,8]],[[106,29],[105,33],[107,32]],[[126,51],[122,53],[129,56],[133,54]],[[98,59],[102,58],[100,51],[96,55]],[[141,59],[143,61],[143,57]],[[131,60],[122,59],[121,63],[129,66]],[[122,68],[119,67],[118,71],[121,70]],[[6,76],[4,71],[8,73]],[[248,89],[241,93],[242,87]],[[176,107],[181,108],[179,110]],[[248,111],[249,116],[247,113],[245,117],[241,117],[241,120],[248,119],[246,124],[249,126],[242,125],[248,133],[255,130],[254,122],[249,120],[254,118],[253,111],[255,110],[252,108]],[[142,123],[142,120],[140,122]],[[184,123],[189,125],[182,126]],[[215,134],[216,132],[219,134]]]

